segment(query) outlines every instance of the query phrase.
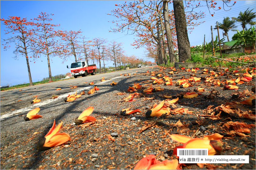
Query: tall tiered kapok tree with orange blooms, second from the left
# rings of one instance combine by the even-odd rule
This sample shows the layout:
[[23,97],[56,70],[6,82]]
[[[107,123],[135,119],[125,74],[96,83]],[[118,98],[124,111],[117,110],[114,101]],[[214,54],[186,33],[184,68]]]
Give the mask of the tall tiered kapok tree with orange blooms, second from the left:
[[54,14],[46,14],[41,12],[37,18],[34,18],[34,29],[32,29],[31,39],[32,46],[35,51],[35,55],[46,55],[49,70],[49,82],[52,81],[52,73],[50,66],[50,56],[62,56],[63,55],[63,45],[60,44],[56,37],[60,37],[60,30],[54,30],[55,27],[60,26],[56,24],[50,24],[52,21],[50,18]]

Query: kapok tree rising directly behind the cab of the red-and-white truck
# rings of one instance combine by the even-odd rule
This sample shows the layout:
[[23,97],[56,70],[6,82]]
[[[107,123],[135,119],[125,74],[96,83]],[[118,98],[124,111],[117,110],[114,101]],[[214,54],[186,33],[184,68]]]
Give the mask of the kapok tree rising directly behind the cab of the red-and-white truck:
[[81,34],[82,31],[78,30],[78,31],[63,31],[61,32],[61,40],[63,41],[63,44],[65,44],[65,50],[67,51],[64,60],[70,56],[70,55],[74,55],[75,57],[75,61],[77,62],[77,54],[79,54],[80,51],[80,46],[78,44],[78,39],[81,38]]

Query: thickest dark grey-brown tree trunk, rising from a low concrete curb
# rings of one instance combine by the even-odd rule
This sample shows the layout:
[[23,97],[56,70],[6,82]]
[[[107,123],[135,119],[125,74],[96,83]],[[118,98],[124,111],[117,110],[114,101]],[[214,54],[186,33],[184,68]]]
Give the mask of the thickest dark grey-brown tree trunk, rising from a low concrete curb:
[[179,49],[179,62],[183,62],[191,58],[183,1],[173,1],[173,11]]

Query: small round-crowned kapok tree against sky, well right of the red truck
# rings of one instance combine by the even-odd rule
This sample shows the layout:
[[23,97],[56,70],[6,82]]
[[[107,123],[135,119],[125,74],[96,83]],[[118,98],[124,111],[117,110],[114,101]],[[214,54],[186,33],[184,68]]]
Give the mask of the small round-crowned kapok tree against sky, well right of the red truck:
[[115,70],[117,69],[116,67],[117,58],[121,57],[124,51],[122,48],[122,45],[123,43],[118,43],[116,41],[111,41],[108,44],[108,58],[114,62]]

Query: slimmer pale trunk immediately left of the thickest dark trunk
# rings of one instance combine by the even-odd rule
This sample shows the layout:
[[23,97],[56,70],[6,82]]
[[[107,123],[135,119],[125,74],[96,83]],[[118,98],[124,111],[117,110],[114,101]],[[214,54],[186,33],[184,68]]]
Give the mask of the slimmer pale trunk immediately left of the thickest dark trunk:
[[169,50],[169,61],[170,63],[175,62],[174,48],[172,43],[172,31],[169,23],[169,12],[168,12],[168,1],[163,1],[163,15],[164,15],[164,26],[166,31],[167,45]]

